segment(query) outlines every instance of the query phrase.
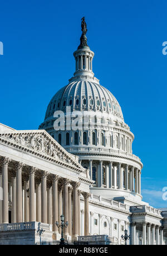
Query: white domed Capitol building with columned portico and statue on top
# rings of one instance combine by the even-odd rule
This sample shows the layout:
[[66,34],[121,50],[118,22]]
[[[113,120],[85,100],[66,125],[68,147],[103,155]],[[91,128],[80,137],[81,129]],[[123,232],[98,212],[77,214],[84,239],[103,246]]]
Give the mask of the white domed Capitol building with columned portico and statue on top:
[[[0,244],[61,237],[92,244],[167,244],[167,208],[142,201],[143,164],[116,98],[93,73],[82,18],[75,73],[38,130],[0,125]],[[100,64],[101,65],[101,64]]]

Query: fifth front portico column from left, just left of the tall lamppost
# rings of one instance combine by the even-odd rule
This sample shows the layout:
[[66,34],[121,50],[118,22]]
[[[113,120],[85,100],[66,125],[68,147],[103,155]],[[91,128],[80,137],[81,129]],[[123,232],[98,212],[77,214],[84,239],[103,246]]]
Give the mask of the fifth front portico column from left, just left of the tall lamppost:
[[52,230],[58,234],[58,227],[56,221],[58,221],[58,175],[54,175],[52,178]]

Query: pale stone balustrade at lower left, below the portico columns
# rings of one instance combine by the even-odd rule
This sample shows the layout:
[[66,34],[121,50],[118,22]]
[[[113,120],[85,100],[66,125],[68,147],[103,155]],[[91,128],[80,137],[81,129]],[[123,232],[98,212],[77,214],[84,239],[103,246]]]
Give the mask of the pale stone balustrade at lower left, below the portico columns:
[[36,222],[36,221],[0,224],[0,231],[31,230],[31,229],[52,231],[52,225]]

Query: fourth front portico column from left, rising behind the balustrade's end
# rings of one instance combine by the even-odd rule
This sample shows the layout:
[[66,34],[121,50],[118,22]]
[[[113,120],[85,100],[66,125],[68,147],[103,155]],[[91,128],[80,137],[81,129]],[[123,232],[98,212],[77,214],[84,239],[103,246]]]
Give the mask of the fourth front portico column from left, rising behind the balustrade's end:
[[46,195],[46,177],[47,172],[42,173],[41,177],[41,222],[47,223],[47,195]]

